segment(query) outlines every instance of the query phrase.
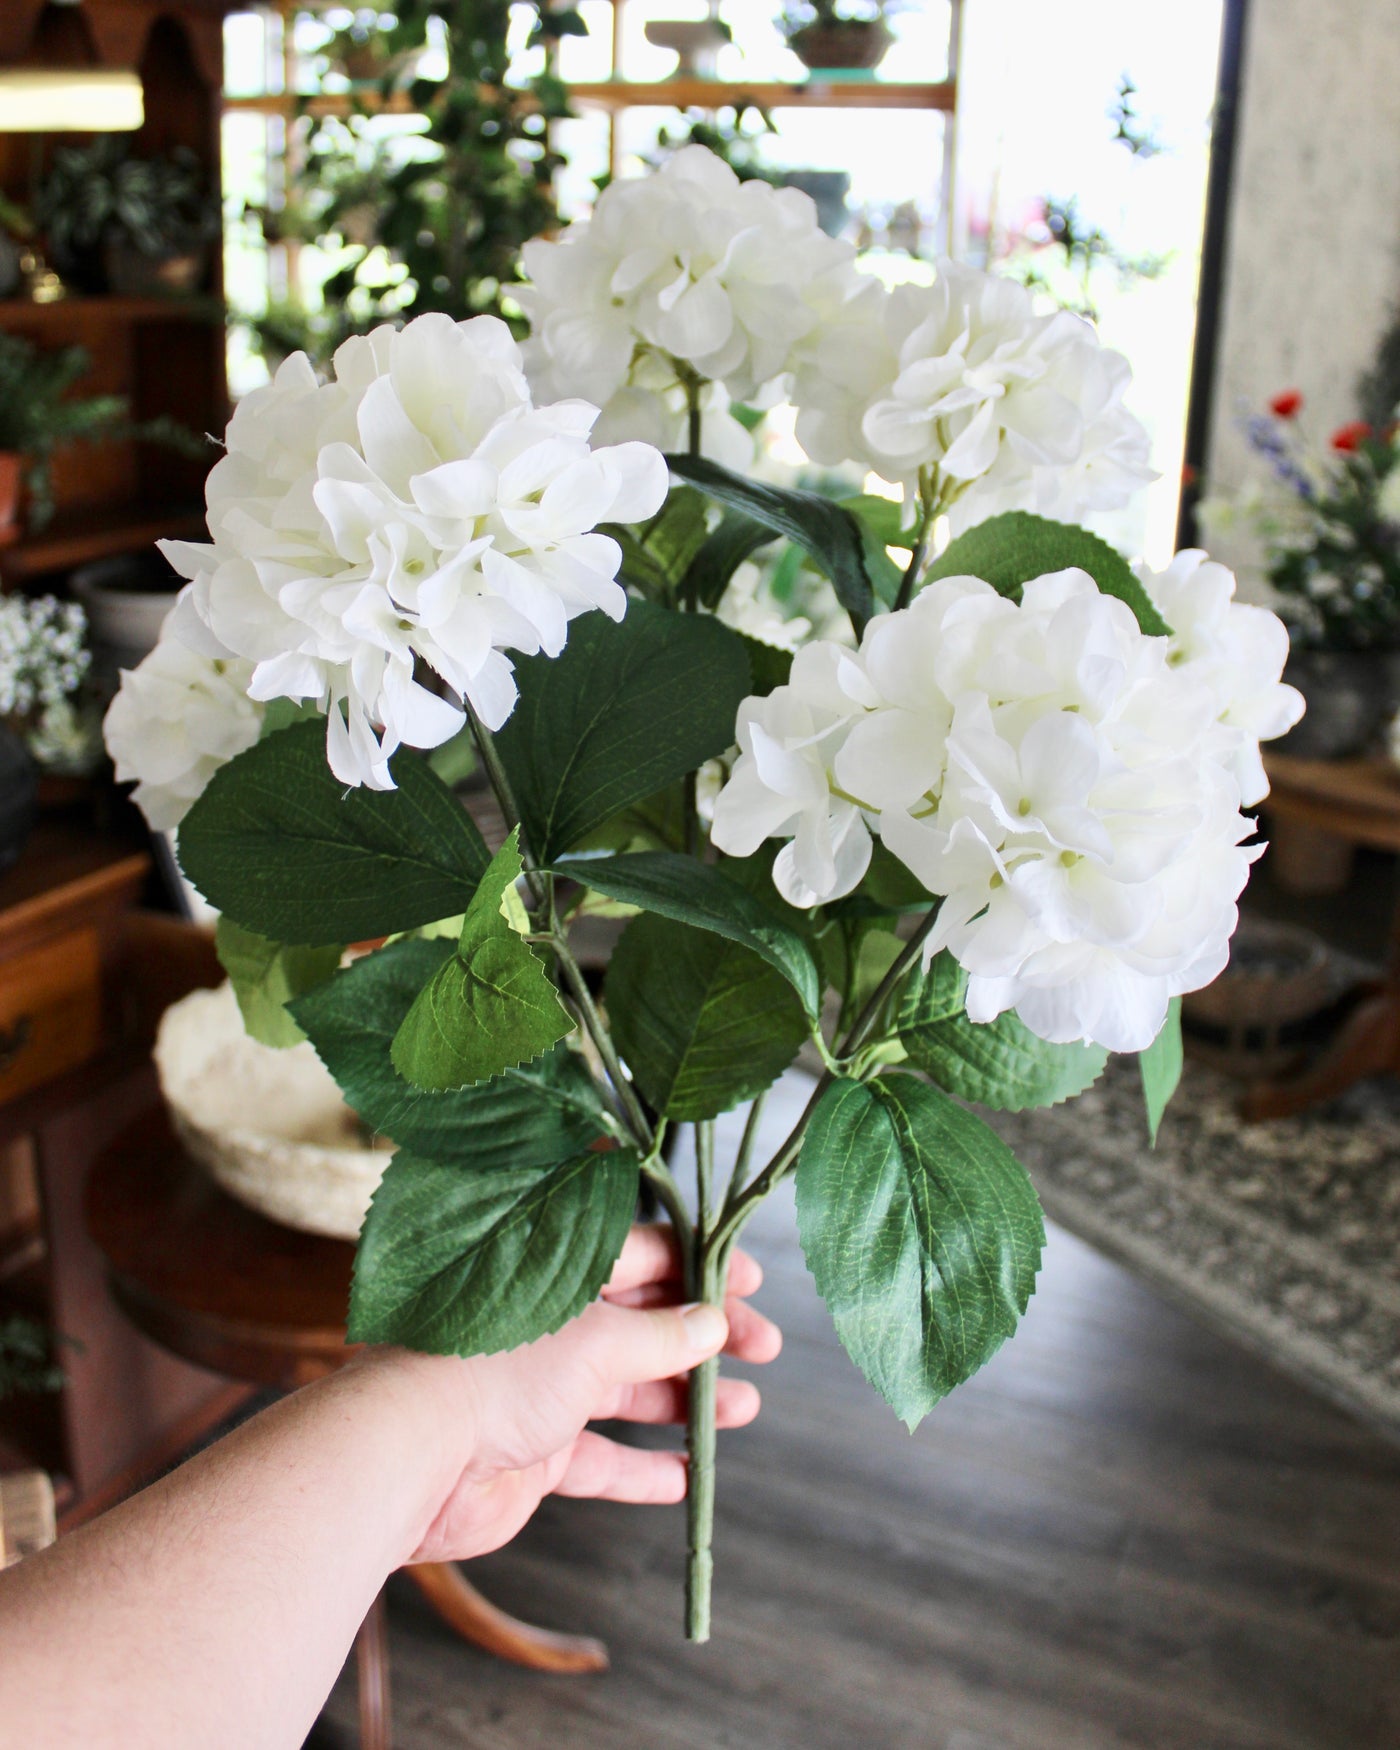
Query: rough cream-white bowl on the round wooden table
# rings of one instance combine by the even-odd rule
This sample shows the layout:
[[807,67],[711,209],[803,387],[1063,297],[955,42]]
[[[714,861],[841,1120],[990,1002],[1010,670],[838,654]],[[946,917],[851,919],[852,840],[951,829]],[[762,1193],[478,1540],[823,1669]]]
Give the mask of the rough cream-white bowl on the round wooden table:
[[392,1144],[359,1139],[308,1043],[276,1052],[250,1040],[222,984],[164,1012],[156,1071],[180,1141],[231,1197],[287,1227],[359,1237]]

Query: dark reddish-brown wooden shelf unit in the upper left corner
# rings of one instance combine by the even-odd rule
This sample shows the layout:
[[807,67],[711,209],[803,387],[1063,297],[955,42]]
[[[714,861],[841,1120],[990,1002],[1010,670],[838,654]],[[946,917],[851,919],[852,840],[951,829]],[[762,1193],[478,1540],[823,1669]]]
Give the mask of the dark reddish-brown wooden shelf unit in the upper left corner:
[[[136,154],[173,147],[196,152],[219,186],[222,18],[233,0],[0,0],[0,66],[135,66],[145,121]],[[94,135],[4,131],[0,192],[28,203],[35,168],[58,145]],[[121,396],[133,422],[159,416],[192,432],[219,432],[228,420],[224,298],[219,250],[198,298],[124,298],[72,292],[54,303],[0,301],[0,331],[44,348],[82,346],[91,369],[74,397]],[[161,444],[116,438],[68,444],[52,458],[54,520],[0,548],[0,586],[54,576],[89,558],[136,551],[158,536],[191,530],[186,514],[203,499],[215,460]]]

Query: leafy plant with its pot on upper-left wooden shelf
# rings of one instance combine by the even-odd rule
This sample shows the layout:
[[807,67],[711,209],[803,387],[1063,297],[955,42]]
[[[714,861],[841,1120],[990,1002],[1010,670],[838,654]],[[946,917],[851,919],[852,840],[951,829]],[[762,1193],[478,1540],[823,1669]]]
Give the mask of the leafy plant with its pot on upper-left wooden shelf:
[[194,152],[135,158],[119,135],[61,147],[35,217],[65,278],[130,298],[196,292],[220,226]]

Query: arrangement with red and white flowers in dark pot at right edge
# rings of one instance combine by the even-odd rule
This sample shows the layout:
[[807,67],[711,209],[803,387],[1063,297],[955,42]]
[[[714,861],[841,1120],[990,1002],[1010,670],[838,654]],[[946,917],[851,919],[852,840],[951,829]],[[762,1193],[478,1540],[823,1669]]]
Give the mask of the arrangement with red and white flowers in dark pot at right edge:
[[1309,441],[1284,390],[1248,424],[1264,485],[1200,506],[1211,534],[1242,523],[1262,542],[1288,621],[1288,679],[1307,718],[1286,751],[1340,760],[1377,738],[1400,704],[1400,434],[1365,420]]

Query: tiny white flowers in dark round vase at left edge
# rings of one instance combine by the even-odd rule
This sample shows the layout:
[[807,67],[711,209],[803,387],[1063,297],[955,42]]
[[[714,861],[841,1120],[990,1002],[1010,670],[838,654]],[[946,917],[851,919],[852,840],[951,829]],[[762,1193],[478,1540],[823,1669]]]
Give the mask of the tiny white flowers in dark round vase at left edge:
[[89,667],[88,621],[52,595],[0,597],[0,870],[24,849],[38,791],[35,749],[63,737]]

